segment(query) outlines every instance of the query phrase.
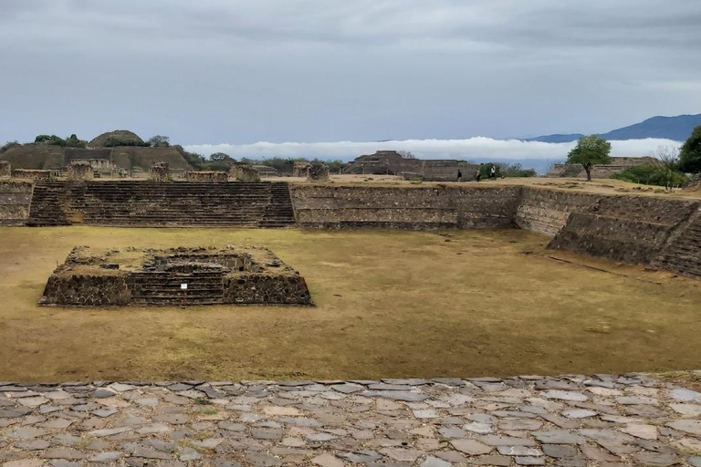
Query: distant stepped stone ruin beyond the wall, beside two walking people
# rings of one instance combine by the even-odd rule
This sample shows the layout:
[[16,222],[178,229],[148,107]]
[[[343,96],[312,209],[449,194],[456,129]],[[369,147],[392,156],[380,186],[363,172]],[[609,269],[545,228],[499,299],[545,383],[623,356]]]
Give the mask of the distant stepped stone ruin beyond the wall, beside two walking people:
[[352,161],[344,173],[402,175],[425,181],[454,182],[458,171],[462,173],[464,181],[474,180],[477,167],[468,161],[411,159],[395,150],[378,150]]

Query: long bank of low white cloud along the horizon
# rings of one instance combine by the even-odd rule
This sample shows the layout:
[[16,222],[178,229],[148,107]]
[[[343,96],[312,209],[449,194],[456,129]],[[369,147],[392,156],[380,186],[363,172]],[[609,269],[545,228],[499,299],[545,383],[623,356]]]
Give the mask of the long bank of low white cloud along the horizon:
[[[679,141],[646,139],[611,141],[612,156],[646,156],[660,146],[681,145]],[[421,159],[466,159],[473,161],[563,161],[575,143],[548,143],[521,140],[401,140],[378,142],[256,142],[253,144],[194,144],[185,150],[209,156],[225,152],[235,159],[247,157],[319,158],[351,161],[376,150],[408,150]]]

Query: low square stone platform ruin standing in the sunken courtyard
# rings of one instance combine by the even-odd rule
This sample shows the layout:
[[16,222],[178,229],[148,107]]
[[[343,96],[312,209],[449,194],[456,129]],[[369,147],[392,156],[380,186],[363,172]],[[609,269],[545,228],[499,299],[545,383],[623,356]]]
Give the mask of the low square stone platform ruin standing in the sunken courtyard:
[[264,247],[73,248],[42,306],[314,305],[304,277]]

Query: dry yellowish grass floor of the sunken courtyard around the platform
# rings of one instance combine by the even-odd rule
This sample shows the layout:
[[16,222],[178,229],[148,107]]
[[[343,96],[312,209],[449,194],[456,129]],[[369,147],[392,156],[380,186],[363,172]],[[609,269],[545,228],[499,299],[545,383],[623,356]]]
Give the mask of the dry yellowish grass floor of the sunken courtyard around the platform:
[[[562,253],[580,265],[555,261],[547,239],[525,231],[448,235],[0,228],[0,379],[701,368],[701,281]],[[76,244],[267,245],[306,277],[318,306],[37,306],[48,275]]]

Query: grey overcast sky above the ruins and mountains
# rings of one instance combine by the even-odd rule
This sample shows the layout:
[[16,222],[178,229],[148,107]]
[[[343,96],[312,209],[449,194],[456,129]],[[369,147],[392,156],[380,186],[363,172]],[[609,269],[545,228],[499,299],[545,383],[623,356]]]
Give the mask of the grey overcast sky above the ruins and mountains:
[[698,0],[0,0],[0,143],[525,137],[701,112]]

